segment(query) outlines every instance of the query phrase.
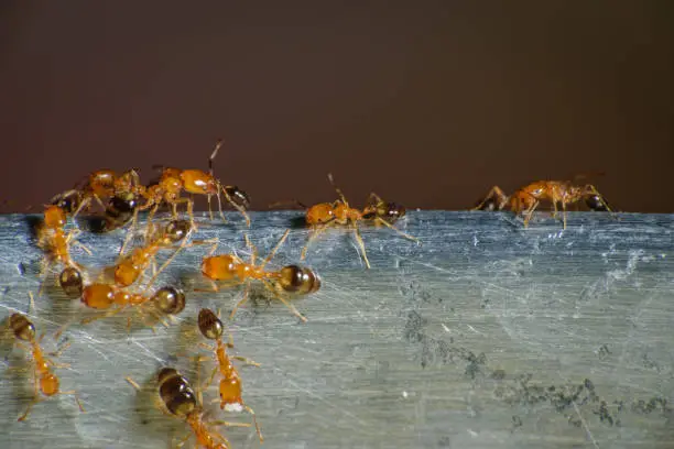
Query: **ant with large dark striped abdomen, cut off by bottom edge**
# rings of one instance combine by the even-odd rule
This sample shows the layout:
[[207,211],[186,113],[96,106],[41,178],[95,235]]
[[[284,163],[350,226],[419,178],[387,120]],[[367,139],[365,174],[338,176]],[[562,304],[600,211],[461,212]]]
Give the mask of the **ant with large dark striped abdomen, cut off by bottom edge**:
[[[131,384],[137,391],[141,387],[130,377],[127,377],[127,382]],[[226,421],[205,421],[204,409],[202,403],[197,401],[197,395],[194,388],[189,384],[189,381],[178,373],[173,368],[162,368],[157,375],[157,392],[161,399],[160,408],[164,414],[171,415],[174,418],[185,419],[187,425],[191,427],[192,432],[196,437],[198,447],[205,449],[230,449],[231,446],[227,438],[217,431],[210,430],[210,426],[238,426],[249,427],[244,423],[226,423]],[[187,441],[189,435],[187,435],[177,447],[183,447]]]

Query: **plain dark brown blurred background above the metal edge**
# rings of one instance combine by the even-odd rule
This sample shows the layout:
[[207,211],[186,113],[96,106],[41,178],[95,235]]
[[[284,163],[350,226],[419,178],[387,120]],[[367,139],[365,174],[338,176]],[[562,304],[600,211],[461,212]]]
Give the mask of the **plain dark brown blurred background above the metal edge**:
[[[341,4],[340,4],[341,3]],[[374,190],[464,209],[593,179],[674,211],[674,2],[3,1],[0,199],[206,168],[257,209]],[[6,207],[6,209],[8,209]],[[7,210],[6,210],[7,211]]]

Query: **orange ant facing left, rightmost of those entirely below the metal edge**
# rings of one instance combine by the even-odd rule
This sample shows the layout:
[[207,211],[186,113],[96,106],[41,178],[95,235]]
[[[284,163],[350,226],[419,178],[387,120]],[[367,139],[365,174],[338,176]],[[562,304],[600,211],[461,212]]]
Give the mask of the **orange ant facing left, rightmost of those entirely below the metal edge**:
[[256,264],[258,249],[251,243],[248,234],[246,234],[246,244],[251,251],[250,262],[244,262],[236,254],[213,255],[218,247],[217,242],[208,255],[203,259],[202,273],[210,280],[214,292],[218,292],[218,286],[215,283],[216,281],[229,281],[233,282],[235,285],[246,284],[243,298],[235,306],[230,319],[233,318],[237,309],[248,300],[251,286],[250,281],[258,280],[261,281],[264,287],[281,303],[290,308],[295,316],[303,322],[306,322],[306,318],[292,304],[285,300],[281,294],[307,295],[318,291],[320,288],[320,277],[318,274],[308,267],[301,267],[297,265],[286,265],[279,271],[264,270],[289,234],[290,229],[283,233],[281,240],[279,240],[276,245],[260,265]]

